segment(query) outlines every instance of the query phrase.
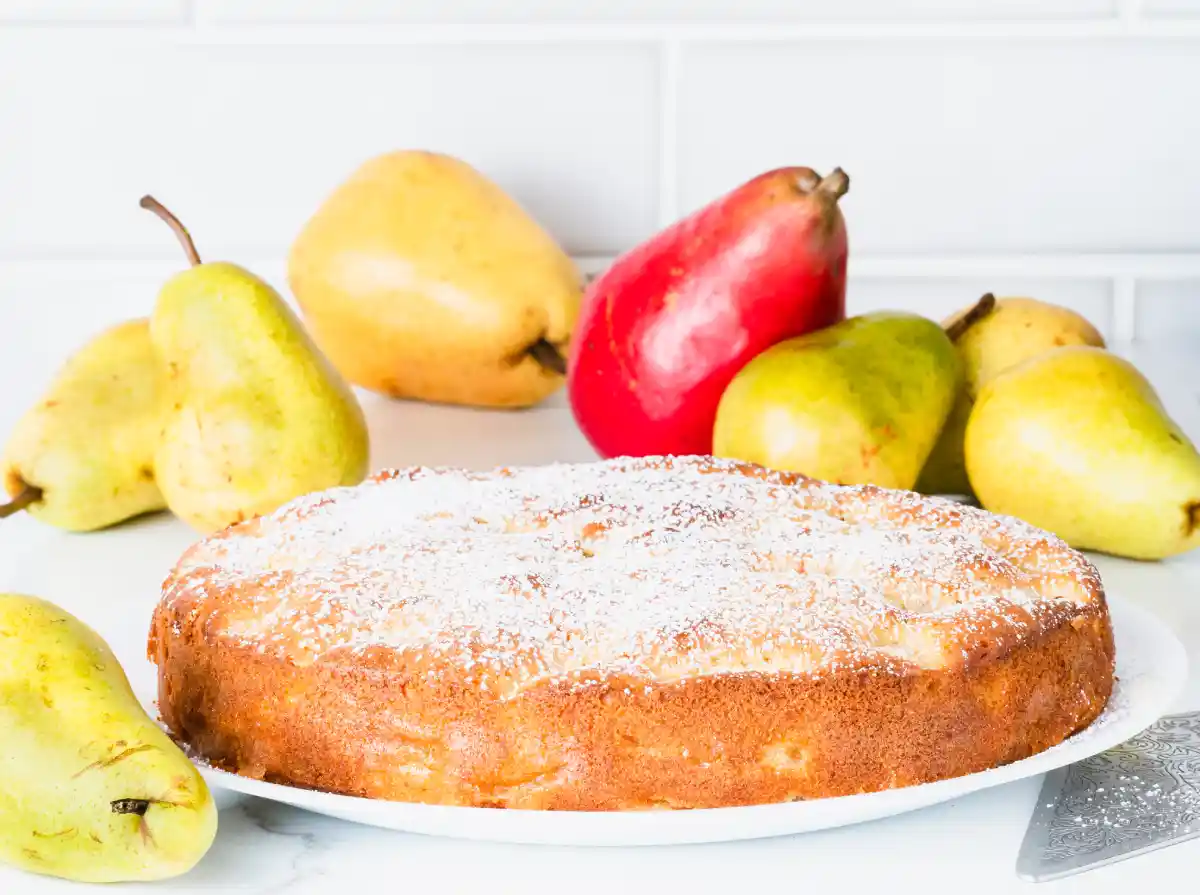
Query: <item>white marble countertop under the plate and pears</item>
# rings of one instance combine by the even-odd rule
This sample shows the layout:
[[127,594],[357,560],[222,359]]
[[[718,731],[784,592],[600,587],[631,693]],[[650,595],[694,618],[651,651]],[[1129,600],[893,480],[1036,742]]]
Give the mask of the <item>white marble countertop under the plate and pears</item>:
[[[1200,352],[1132,347],[1172,415],[1200,439]],[[365,397],[376,467],[425,462],[486,467],[587,459],[562,395],[522,413],[403,404]],[[134,686],[152,685],[144,657],[158,583],[194,537],[157,517],[92,535],[68,535],[29,518],[0,527],[0,587],[59,602],[116,650]],[[1192,675],[1176,709],[1200,709],[1200,551],[1166,563],[1096,558],[1105,584],[1168,621],[1188,649]],[[772,877],[791,888],[834,891],[1008,893],[1032,887],[1014,870],[1042,785],[1009,783],[886,821],[728,845],[622,849],[503,846],[356,827],[277,804],[220,794],[217,840],[191,873],[108,891],[326,893],[730,891]],[[1126,893],[1194,876],[1200,840],[1081,876],[1043,883],[1054,893]],[[836,888],[832,888],[836,887]],[[0,893],[79,891],[78,885],[0,867]]]

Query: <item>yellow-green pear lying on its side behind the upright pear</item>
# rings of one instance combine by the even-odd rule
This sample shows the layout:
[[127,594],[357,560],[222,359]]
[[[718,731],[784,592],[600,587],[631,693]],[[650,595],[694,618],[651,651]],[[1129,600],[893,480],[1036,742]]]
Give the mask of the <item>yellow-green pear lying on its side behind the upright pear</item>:
[[74,352],[18,420],[4,457],[12,503],[47,524],[92,531],[164,507],[155,485],[160,376],[148,320]]

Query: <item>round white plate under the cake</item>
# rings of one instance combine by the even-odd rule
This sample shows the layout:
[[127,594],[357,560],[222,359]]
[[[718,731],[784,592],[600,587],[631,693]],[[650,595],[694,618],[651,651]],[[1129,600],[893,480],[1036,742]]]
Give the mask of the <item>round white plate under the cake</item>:
[[1044,774],[1103,752],[1150,727],[1187,677],[1183,647],[1156,617],[1109,597],[1117,685],[1104,714],[1069,740],[1012,764],[962,777],[811,801],[689,811],[527,811],[360,799],[202,771],[214,787],[282,801],[355,823],[458,839],[571,846],[637,846],[761,839],[874,821]]

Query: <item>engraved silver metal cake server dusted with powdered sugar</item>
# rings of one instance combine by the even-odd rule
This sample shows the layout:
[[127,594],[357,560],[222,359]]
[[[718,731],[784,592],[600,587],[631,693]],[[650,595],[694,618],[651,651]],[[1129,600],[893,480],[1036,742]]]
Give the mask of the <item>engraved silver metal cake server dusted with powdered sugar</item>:
[[1200,836],[1200,711],[1046,775],[1016,873],[1045,882]]

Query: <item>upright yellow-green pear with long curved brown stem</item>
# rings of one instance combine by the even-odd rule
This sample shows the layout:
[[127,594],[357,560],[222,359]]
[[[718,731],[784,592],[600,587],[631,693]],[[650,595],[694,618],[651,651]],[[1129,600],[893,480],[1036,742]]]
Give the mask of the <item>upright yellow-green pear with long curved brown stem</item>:
[[235,264],[202,263],[178,218],[151,197],[142,205],[192,264],[163,284],[150,317],[166,370],[155,470],[170,510],[209,533],[362,481],[362,408],[283,298]]

